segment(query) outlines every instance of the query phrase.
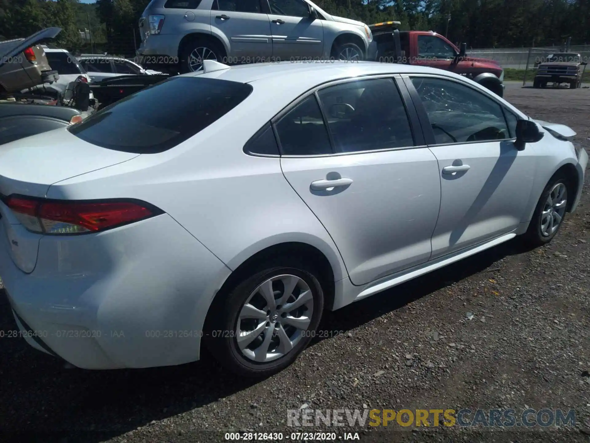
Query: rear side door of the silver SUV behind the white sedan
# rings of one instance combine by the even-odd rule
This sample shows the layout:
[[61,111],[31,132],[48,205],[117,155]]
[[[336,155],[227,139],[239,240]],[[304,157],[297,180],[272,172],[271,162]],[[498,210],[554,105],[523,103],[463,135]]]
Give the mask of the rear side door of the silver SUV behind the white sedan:
[[252,63],[273,55],[270,21],[260,0],[214,0],[211,28],[214,35],[229,40],[229,63]]

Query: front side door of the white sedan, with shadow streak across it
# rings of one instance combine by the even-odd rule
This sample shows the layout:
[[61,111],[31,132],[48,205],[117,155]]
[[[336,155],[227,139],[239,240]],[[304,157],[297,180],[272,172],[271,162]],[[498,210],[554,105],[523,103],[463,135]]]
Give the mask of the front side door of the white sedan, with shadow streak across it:
[[[534,147],[514,147],[517,117],[460,80],[414,76],[430,150],[438,159],[441,206],[432,258],[519,227],[535,175]],[[413,92],[413,91],[412,91]]]

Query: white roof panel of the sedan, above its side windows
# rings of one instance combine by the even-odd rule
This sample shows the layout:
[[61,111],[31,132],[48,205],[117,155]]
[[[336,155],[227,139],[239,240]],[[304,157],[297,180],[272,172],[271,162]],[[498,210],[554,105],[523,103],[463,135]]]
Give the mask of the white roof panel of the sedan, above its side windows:
[[264,83],[268,87],[280,86],[283,90],[291,88],[304,92],[319,84],[334,80],[379,74],[437,74],[464,79],[458,74],[440,69],[376,61],[326,61],[325,63],[281,61],[279,63],[243,64],[209,73],[197,71],[182,74],[182,76],[202,76],[241,83],[257,82],[257,85]]

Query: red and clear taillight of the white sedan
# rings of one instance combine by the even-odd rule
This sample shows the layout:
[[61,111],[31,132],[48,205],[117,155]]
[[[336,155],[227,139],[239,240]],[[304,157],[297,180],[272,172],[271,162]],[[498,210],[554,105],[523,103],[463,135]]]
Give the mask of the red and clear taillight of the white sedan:
[[100,232],[162,214],[137,200],[45,200],[25,196],[2,198],[22,226],[40,234]]

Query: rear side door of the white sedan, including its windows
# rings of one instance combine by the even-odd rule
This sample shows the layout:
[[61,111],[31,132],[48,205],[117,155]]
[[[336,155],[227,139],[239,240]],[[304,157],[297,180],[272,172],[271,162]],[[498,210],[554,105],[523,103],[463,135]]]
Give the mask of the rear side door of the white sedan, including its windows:
[[283,173],[332,236],[355,285],[431,255],[437,159],[399,85],[387,77],[337,82],[273,120]]

